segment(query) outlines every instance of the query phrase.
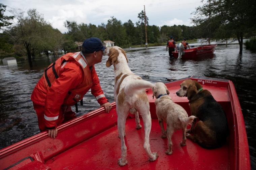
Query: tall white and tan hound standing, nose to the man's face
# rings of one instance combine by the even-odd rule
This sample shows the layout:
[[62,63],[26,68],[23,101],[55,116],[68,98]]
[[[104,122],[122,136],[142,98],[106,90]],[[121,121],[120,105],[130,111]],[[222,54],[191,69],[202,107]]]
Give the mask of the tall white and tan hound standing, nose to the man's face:
[[129,114],[135,114],[136,128],[140,125],[139,115],[141,115],[144,129],[145,141],[144,149],[150,161],[155,161],[158,157],[157,153],[152,153],[149,144],[149,134],[151,131],[151,115],[149,111],[149,99],[145,92],[146,88],[154,87],[154,84],[142,80],[138,75],[131,72],[128,66],[128,60],[125,51],[117,46],[106,48],[105,55],[108,55],[106,66],[114,65],[115,72],[115,87],[114,98],[117,109],[117,125],[119,137],[121,138],[122,158],[119,159],[118,164],[124,166],[127,164],[127,148],[125,145],[125,122]]

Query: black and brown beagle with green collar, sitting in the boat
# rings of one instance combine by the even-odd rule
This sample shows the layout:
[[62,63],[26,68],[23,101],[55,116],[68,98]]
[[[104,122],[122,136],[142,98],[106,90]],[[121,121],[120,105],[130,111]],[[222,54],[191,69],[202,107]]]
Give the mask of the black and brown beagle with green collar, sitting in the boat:
[[194,136],[187,133],[186,137],[206,149],[224,145],[229,129],[226,113],[221,105],[197,81],[187,79],[180,86],[177,96],[188,98],[191,115],[199,119],[197,123],[197,119],[194,119],[191,128],[187,130],[188,133],[194,131]]

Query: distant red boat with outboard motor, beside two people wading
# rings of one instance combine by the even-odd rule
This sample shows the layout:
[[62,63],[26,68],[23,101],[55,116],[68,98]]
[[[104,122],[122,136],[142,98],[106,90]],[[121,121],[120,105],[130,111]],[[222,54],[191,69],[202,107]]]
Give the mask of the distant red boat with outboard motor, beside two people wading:
[[[187,50],[183,50],[183,55],[181,56],[182,59],[193,59],[197,57],[202,57],[206,55],[213,54],[215,51],[217,44],[213,45],[205,45],[205,46],[200,46],[196,48],[190,48]],[[172,52],[174,58],[179,57],[179,52],[174,51]]]

